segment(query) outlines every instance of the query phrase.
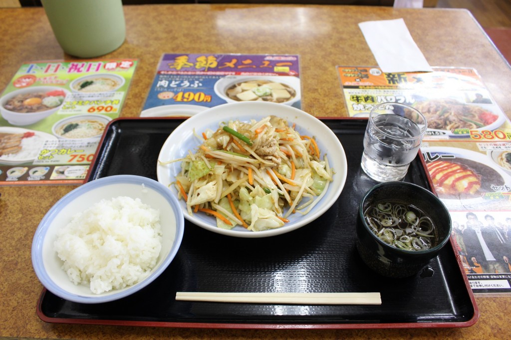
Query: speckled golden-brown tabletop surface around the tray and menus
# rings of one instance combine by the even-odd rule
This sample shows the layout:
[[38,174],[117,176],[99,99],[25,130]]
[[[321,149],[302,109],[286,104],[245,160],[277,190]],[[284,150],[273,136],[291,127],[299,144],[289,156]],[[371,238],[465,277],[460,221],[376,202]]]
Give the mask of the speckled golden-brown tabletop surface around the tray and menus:
[[[125,43],[105,58],[137,58],[122,116],[140,114],[164,53],[298,54],[302,108],[315,116],[346,116],[335,67],[376,65],[358,23],[404,18],[432,66],[474,67],[511,115],[511,68],[465,10],[364,6],[143,5],[124,7]],[[57,44],[42,8],[0,9],[0,88],[21,63],[72,59]],[[67,325],[42,322],[42,286],[30,250],[39,221],[74,186],[0,187],[0,337],[155,338],[511,338],[511,297],[477,297],[479,321],[468,328],[361,330],[219,330]]]

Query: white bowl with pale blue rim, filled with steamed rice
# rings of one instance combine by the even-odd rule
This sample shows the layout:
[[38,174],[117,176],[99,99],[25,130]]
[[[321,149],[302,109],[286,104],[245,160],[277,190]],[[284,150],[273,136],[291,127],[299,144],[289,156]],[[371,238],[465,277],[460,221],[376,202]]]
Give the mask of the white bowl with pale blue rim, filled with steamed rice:
[[87,182],[41,220],[32,265],[44,287],[79,303],[118,300],[154,281],[177,254],[184,219],[175,195],[142,176]]

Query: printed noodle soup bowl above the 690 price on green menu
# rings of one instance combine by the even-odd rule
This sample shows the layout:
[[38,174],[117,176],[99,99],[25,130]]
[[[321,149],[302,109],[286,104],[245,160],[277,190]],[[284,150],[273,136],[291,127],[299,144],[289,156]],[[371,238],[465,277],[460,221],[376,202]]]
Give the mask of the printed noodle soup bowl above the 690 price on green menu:
[[112,73],[88,74],[79,77],[69,85],[75,93],[114,92],[119,90],[126,80]]

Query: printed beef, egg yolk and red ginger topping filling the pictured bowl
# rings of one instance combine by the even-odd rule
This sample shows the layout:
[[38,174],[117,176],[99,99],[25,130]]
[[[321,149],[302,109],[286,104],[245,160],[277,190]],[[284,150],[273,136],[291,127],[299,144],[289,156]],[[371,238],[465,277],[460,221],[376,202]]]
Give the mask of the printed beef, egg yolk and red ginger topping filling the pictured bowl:
[[41,112],[58,107],[64,98],[65,92],[61,90],[21,93],[8,99],[4,108],[17,113]]

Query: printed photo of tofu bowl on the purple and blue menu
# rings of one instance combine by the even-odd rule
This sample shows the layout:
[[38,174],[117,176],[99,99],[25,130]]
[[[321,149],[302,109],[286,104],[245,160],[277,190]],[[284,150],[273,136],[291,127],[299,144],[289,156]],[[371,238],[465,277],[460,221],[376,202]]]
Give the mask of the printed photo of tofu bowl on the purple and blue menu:
[[269,101],[292,106],[301,99],[294,76],[225,76],[215,83],[217,96],[227,102]]

